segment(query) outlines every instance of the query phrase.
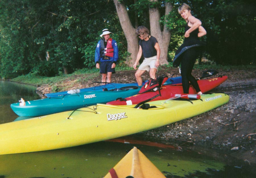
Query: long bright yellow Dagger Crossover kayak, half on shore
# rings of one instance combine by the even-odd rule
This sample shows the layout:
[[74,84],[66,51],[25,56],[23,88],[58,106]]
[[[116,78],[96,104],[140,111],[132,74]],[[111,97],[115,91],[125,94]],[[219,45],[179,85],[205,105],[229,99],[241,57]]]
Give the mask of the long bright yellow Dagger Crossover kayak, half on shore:
[[187,119],[227,103],[223,93],[200,100],[148,102],[148,110],[97,104],[27,120],[0,124],[0,154],[44,151],[113,139]]

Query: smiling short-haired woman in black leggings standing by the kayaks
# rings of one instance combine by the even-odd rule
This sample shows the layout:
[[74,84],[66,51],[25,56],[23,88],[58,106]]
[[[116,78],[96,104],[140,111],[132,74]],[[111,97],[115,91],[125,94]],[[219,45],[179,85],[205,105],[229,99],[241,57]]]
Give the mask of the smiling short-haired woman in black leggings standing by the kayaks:
[[205,45],[205,43],[199,40],[199,37],[206,35],[206,30],[201,26],[201,21],[191,15],[189,5],[183,3],[178,11],[181,17],[187,22],[187,25],[185,27],[184,43],[175,53],[173,66],[178,67],[181,64],[183,93],[189,93],[190,82],[197,91],[197,94],[202,94],[197,80],[192,76],[191,72],[195,60],[201,52],[200,47]]

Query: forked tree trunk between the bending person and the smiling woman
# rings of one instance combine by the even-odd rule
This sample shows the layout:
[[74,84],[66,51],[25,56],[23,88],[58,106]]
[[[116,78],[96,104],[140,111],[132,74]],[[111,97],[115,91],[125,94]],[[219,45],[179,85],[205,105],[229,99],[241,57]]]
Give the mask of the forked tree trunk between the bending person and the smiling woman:
[[[158,1],[158,0],[150,0]],[[166,3],[165,16],[172,11],[171,3]],[[161,50],[160,53],[160,65],[168,64],[168,47],[171,40],[171,33],[164,25],[163,31],[161,31],[160,26],[160,13],[157,8],[149,8],[149,21],[150,21],[150,33],[154,36]]]

